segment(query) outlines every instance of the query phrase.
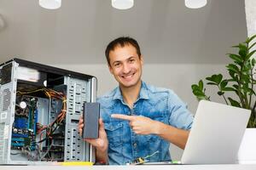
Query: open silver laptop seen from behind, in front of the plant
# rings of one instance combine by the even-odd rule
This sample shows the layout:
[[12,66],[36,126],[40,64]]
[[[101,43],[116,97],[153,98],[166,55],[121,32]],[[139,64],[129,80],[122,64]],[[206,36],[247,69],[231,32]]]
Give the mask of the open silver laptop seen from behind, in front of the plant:
[[250,114],[250,110],[201,100],[182,159],[174,164],[236,163]]

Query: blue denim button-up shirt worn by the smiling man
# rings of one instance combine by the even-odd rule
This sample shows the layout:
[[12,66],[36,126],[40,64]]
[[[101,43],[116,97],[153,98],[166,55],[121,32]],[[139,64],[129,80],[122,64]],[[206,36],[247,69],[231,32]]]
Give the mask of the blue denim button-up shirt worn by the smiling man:
[[[147,116],[155,121],[173,127],[190,129],[193,116],[186,105],[166,88],[155,88],[145,82],[137,101],[130,109],[119,88],[98,99],[101,104],[101,117],[108,135],[108,161],[110,165],[124,165],[138,157],[148,157],[147,161],[171,161],[170,143],[157,135],[140,135],[132,131],[129,122],[114,119],[111,114]],[[154,126],[154,124],[152,125]]]

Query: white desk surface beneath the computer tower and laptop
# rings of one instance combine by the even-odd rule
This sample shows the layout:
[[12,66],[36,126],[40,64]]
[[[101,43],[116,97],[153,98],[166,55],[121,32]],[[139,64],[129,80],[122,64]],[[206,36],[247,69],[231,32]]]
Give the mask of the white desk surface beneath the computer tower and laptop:
[[92,166],[92,167],[62,167],[62,166],[0,166],[1,170],[87,170],[87,169],[95,169],[95,170],[108,170],[108,169],[148,169],[148,170],[255,170],[256,164],[250,165],[241,165],[241,164],[233,164],[233,165],[151,165],[151,166]]

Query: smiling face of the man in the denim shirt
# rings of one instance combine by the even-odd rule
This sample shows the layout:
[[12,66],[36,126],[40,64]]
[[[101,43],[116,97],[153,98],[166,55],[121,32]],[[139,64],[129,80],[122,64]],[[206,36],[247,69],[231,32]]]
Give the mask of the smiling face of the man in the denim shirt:
[[131,44],[117,46],[109,52],[109,71],[113,74],[119,86],[131,88],[141,81],[143,57],[139,58],[136,48]]

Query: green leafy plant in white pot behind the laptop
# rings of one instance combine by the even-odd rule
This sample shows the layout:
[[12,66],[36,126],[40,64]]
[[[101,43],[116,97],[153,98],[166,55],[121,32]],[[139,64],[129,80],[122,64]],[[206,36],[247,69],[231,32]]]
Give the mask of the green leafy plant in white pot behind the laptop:
[[[245,42],[241,42],[238,45],[233,46],[233,48],[238,49],[238,54],[227,54],[232,60],[230,64],[226,65],[226,70],[228,71],[230,77],[224,78],[222,74],[218,73],[213,74],[211,77],[206,77],[206,80],[207,86],[212,86],[218,89],[218,96],[224,99],[224,102],[227,105],[241,107],[252,111],[247,127],[254,128],[253,130],[255,133],[253,136],[256,137],[256,69],[254,67],[256,59],[253,58],[253,54],[256,52],[256,50],[253,50],[253,47],[256,44],[256,42],[253,42],[255,37],[256,35],[253,37],[248,37]],[[204,82],[202,80],[200,80],[198,84],[193,84],[191,88],[193,90],[193,94],[195,94],[198,100],[210,100],[210,96],[207,96],[206,88],[204,87]],[[233,97],[230,97],[229,94]],[[252,133],[252,130],[247,131],[244,139],[242,140],[241,147],[243,144],[248,145],[245,137],[248,133]],[[251,138],[252,135],[250,134],[249,137]],[[255,145],[256,139],[255,142],[252,143],[252,141],[250,141],[250,143]],[[246,152],[251,151],[252,156],[254,156],[253,152],[256,152],[256,147],[254,151],[252,151],[252,148],[240,148],[238,154],[245,154],[244,156],[238,156],[240,160],[246,156],[245,159],[247,159],[247,161],[252,161],[248,160],[251,159],[248,157],[250,153],[241,153],[245,150]],[[256,161],[255,158],[254,161]]]

